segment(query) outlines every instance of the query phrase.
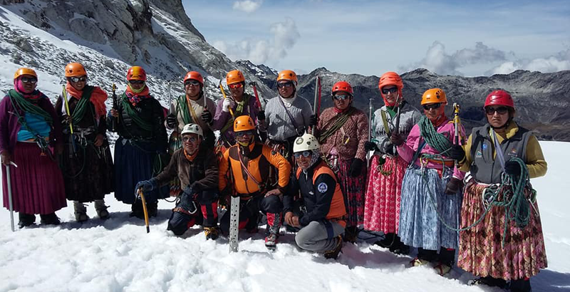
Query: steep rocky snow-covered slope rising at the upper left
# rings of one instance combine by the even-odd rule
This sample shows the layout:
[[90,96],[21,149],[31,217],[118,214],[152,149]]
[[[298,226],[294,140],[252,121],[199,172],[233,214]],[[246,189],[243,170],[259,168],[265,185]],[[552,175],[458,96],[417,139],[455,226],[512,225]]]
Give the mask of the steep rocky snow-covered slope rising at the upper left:
[[[181,0],[26,0],[0,6],[0,36],[1,93],[12,88],[16,69],[27,66],[38,73],[38,89],[55,98],[69,62],[86,66],[91,85],[110,93],[116,83],[122,92],[128,68],[138,65],[149,75],[151,94],[167,105],[167,82],[172,95],[181,94],[187,71],[202,73],[206,94],[217,99],[219,79],[243,70],[204,41]],[[258,81],[261,95],[272,95],[257,76],[246,77]]]

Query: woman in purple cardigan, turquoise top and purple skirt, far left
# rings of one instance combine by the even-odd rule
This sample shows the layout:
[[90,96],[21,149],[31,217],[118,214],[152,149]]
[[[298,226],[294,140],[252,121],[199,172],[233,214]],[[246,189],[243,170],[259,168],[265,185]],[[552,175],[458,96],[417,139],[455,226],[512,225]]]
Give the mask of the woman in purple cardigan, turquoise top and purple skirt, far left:
[[[41,224],[59,224],[56,211],[66,207],[63,177],[55,154],[61,155],[61,122],[51,101],[36,89],[38,75],[30,68],[14,74],[14,89],[0,103],[0,156],[9,167],[2,171],[4,207],[18,212],[20,228],[30,226],[40,214]],[[16,167],[17,165],[17,167]]]

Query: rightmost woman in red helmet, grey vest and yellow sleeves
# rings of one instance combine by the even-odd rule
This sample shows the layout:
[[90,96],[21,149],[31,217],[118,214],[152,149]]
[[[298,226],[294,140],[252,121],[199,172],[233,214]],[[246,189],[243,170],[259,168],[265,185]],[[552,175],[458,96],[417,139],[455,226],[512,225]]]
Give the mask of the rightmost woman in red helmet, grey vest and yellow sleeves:
[[[504,288],[510,281],[511,291],[531,291],[529,278],[546,268],[546,251],[538,205],[527,179],[544,176],[546,161],[537,137],[514,122],[514,102],[507,91],[489,93],[484,111],[487,125],[474,128],[465,152],[458,148],[454,157],[471,173],[461,227],[475,224],[460,231],[457,266],[480,277],[473,284]],[[522,192],[512,186],[519,179],[524,182]],[[521,199],[516,211],[523,219],[509,220],[502,203],[516,198]]]

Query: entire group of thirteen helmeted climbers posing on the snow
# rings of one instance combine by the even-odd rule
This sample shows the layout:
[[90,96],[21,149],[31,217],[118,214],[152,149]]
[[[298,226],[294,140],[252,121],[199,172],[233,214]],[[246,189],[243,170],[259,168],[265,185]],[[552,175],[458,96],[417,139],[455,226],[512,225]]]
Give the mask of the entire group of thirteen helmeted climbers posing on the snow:
[[[375,244],[395,254],[417,248],[410,266],[433,263],[441,275],[459,249],[457,266],[480,276],[473,284],[530,291],[529,277],[546,267],[528,183],[546,173],[546,162],[537,138],[514,122],[514,101],[504,90],[487,95],[487,125],[465,139],[465,129],[445,115],[444,90],[425,91],[422,115],[404,99],[394,72],[380,77],[384,105],[370,120],[353,106],[346,81],[333,85],[333,107],[311,114],[289,70],[279,73],[279,95],[264,109],[245,93],[240,71],[227,73],[231,96],[217,106],[204,96],[202,75],[189,72],[185,95],[172,100],[167,115],[139,66],[129,69],[127,89],[108,112],[107,94],[87,85],[81,64],[68,64],[65,76],[55,108],[29,68],[16,71],[14,89],[0,103],[1,160],[18,165],[11,177],[3,174],[4,206],[10,179],[21,227],[33,224],[34,214],[58,224],[55,212],[66,198],[78,221],[88,220],[87,202],[108,218],[103,197],[113,191],[142,217],[142,192],[151,217],[158,199],[177,197],[167,227],[174,234],[200,224],[217,239],[220,230],[228,233],[229,198],[239,197],[239,229],[257,232],[266,215],[269,248],[286,224],[301,249],[336,258],[363,226],[383,232]],[[170,143],[166,128],[173,130]],[[114,165],[107,130],[119,136]],[[513,200],[528,216],[508,213],[504,205]],[[221,219],[218,204],[227,209]]]

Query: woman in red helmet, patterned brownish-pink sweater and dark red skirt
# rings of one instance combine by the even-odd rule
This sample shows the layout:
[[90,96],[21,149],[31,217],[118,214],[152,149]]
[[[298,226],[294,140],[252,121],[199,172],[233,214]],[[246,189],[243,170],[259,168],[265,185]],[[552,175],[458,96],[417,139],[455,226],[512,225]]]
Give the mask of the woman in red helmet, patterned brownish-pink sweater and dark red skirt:
[[364,187],[366,187],[366,151],[368,118],[362,110],[353,107],[353,89],[350,83],[339,81],[333,85],[333,107],[323,110],[315,121],[314,135],[321,143],[321,153],[331,169],[336,172],[344,193],[348,211],[344,238],[356,242],[358,224],[362,224],[364,212]]

